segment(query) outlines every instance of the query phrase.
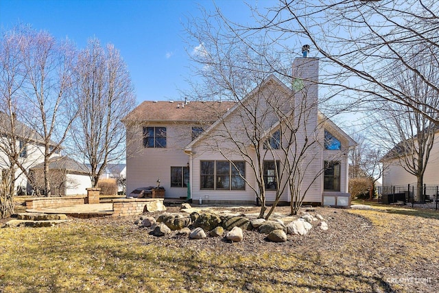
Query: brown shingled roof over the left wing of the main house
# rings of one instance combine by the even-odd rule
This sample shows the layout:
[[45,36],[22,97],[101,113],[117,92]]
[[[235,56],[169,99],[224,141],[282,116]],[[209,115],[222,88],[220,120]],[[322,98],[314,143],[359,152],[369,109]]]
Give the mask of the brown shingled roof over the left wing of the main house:
[[235,102],[169,102],[145,101],[122,121],[213,122],[235,105]]

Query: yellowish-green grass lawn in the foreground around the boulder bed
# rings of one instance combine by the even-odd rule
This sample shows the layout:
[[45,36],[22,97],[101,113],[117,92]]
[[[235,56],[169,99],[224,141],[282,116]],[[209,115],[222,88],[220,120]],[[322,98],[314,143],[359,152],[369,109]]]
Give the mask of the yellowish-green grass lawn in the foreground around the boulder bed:
[[[384,209],[349,213],[372,223],[368,235],[356,243],[326,250],[304,247],[298,253],[282,249],[291,245],[286,242],[276,250],[261,249],[246,256],[178,248],[171,243],[175,239],[159,246],[154,237],[123,220],[1,228],[0,292],[432,292],[437,288],[437,218]],[[436,271],[424,272],[433,278],[428,284],[390,279],[403,276],[402,272],[420,277],[417,273],[430,266]]]

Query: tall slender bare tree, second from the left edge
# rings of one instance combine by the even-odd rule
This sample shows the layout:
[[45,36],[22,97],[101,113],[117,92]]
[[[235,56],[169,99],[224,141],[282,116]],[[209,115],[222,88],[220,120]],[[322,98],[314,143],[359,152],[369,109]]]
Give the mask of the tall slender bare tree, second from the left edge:
[[29,41],[20,52],[26,72],[20,88],[22,117],[43,145],[44,190],[49,196],[49,159],[60,152],[75,118],[69,95],[75,51],[67,41],[57,42],[47,32],[29,28],[21,37]]

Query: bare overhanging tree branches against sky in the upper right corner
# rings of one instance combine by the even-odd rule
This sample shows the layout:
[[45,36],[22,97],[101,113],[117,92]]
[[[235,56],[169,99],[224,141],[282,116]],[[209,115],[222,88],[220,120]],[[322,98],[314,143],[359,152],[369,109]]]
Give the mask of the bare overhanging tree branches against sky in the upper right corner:
[[283,48],[290,38],[310,42],[327,72],[329,95],[347,101],[338,105],[342,108],[367,110],[368,102],[383,99],[438,123],[438,107],[394,87],[383,74],[383,69],[404,69],[431,93],[439,92],[436,78],[420,71],[411,54],[413,47],[423,45],[419,53],[431,57],[431,65],[438,67],[438,10],[433,0],[281,0],[269,10],[254,10],[259,25],[241,26],[241,35],[263,32]]

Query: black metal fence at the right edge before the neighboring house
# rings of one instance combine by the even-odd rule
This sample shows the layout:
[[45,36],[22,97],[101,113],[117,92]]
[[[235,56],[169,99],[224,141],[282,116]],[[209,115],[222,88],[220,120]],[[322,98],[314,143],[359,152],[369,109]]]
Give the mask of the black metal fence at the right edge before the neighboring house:
[[439,185],[416,183],[407,185],[378,187],[378,194],[383,204],[407,204],[422,209],[438,209]]

